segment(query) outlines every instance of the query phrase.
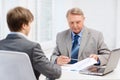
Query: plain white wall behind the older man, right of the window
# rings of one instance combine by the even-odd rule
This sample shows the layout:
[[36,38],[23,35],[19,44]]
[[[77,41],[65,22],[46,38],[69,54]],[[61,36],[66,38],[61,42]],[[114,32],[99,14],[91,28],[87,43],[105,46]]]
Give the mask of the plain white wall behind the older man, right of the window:
[[120,45],[120,42],[117,45],[120,40],[118,38],[120,33],[117,31],[120,25],[118,23],[120,20],[118,18],[120,16],[119,4],[119,0],[53,0],[53,26],[56,27],[54,33],[56,35],[69,28],[66,12],[72,7],[79,7],[86,17],[85,25],[101,31],[108,47],[110,49],[116,48]]

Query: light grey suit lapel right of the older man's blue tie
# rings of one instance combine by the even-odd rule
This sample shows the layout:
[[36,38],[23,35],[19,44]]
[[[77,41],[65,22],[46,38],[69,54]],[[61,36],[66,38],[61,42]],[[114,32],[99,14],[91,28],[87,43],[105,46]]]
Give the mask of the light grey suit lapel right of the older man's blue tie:
[[[80,49],[79,49],[79,54],[78,54],[78,59],[80,59],[80,56],[81,56],[81,53],[83,52],[87,42],[88,42],[88,39],[89,39],[89,32],[88,32],[88,29],[86,27],[83,28],[83,33],[82,33],[82,39],[81,39],[81,42],[80,42]],[[81,60],[81,59],[80,59]]]

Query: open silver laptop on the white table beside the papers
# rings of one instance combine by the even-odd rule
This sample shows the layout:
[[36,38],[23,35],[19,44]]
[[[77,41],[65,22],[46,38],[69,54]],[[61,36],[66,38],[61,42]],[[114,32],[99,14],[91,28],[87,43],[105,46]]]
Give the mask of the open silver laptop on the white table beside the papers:
[[119,62],[120,58],[120,49],[114,49],[110,52],[110,56],[108,58],[108,62],[106,66],[89,66],[83,70],[80,70],[79,73],[81,74],[90,74],[90,75],[105,75],[107,73],[112,72]]

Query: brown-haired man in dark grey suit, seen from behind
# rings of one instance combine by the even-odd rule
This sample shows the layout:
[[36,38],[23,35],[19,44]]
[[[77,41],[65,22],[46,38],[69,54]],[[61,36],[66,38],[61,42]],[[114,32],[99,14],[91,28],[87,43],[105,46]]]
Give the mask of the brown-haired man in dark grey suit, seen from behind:
[[28,54],[37,80],[40,74],[50,79],[59,78],[61,75],[60,66],[51,63],[44,55],[41,46],[26,37],[30,32],[33,18],[32,13],[26,8],[11,9],[7,13],[7,24],[11,33],[0,41],[0,45],[2,45],[0,50],[19,51]]

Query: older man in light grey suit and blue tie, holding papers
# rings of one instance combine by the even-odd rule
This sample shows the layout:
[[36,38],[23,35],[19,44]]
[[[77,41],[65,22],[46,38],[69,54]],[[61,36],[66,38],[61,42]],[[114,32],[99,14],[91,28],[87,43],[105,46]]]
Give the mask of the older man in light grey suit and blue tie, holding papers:
[[51,61],[63,65],[92,57],[98,65],[106,64],[110,51],[102,33],[84,26],[85,17],[79,8],[68,10],[66,17],[70,29],[58,33]]

